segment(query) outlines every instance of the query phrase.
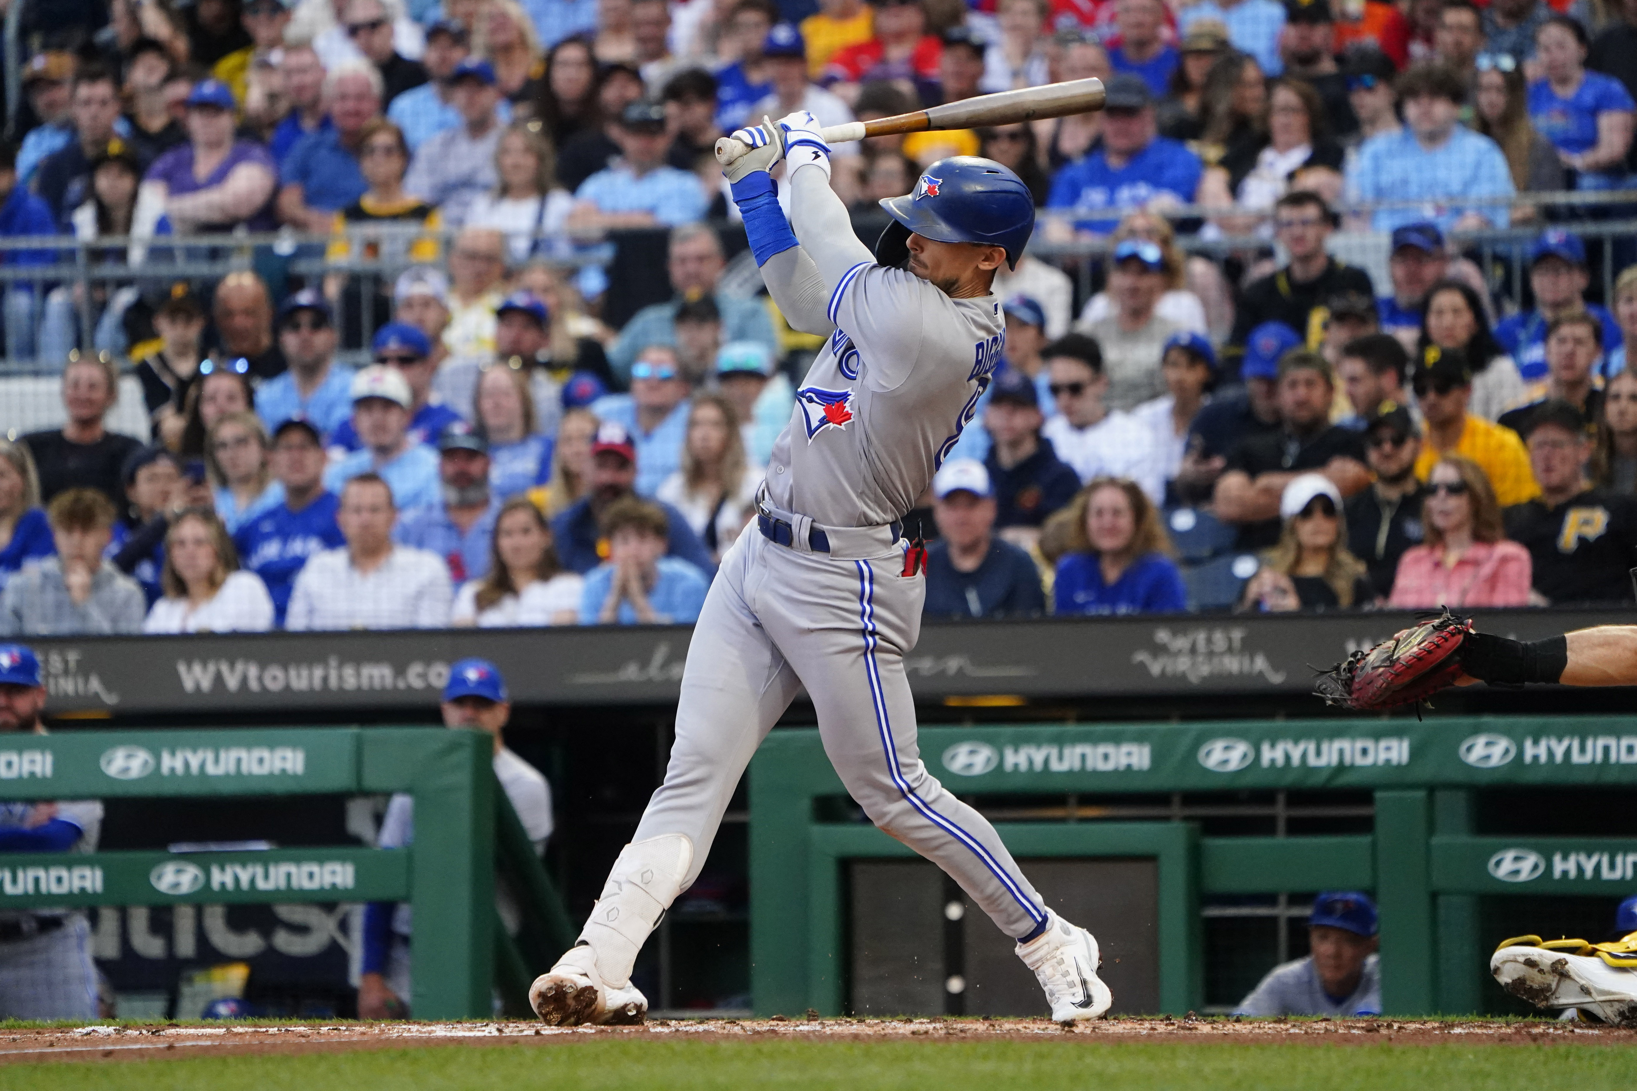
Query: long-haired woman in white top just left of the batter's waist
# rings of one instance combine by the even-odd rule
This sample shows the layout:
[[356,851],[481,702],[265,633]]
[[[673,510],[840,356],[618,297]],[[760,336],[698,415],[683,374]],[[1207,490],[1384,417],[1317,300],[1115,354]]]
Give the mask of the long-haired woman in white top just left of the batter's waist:
[[745,463],[733,406],[720,394],[694,394],[683,468],[653,496],[683,514],[715,561],[738,538],[756,504],[766,466],[751,469]]

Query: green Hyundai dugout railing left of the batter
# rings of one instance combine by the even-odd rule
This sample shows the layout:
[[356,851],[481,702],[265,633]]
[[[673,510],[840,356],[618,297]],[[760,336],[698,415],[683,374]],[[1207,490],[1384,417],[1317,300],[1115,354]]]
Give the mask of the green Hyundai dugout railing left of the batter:
[[[7,800],[414,797],[408,849],[0,854],[0,909],[409,901],[416,1017],[489,1017],[491,988],[527,1014],[529,983],[575,929],[496,785],[491,746],[488,734],[447,728],[0,736]],[[496,919],[496,869],[522,909],[516,942]]]

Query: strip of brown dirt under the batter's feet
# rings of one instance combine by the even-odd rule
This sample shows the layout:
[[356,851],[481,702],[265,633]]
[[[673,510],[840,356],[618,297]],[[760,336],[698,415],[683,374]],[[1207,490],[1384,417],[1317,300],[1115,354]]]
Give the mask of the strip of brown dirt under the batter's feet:
[[1536,1019],[1223,1019],[1120,1017],[1062,1029],[1046,1019],[658,1019],[640,1027],[539,1022],[329,1022],[87,1026],[0,1030],[0,1065],[41,1060],[151,1060],[224,1053],[311,1053],[416,1045],[568,1045],[596,1039],[927,1039],[1084,1042],[1637,1044],[1637,1030]]

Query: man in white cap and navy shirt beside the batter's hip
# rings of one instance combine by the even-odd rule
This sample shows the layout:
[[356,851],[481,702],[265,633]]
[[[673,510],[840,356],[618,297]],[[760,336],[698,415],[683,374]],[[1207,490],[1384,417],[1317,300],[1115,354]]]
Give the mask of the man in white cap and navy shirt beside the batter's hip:
[[1046,612],[1030,554],[995,537],[995,492],[972,458],[951,458],[931,479],[938,541],[927,546],[927,618],[1030,617]]

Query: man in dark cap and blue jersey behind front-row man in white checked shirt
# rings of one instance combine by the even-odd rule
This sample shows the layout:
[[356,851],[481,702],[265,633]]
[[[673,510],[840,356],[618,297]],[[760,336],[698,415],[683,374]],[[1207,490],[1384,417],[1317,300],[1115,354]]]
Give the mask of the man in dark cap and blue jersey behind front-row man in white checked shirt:
[[285,502],[239,527],[232,546],[239,566],[255,572],[273,599],[273,623],[285,626],[285,610],[296,574],[314,553],[347,543],[336,525],[340,499],[324,489],[324,437],[311,422],[285,420],[273,432],[273,478],[285,486]]

